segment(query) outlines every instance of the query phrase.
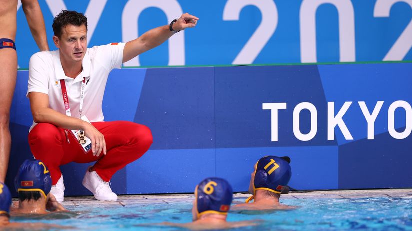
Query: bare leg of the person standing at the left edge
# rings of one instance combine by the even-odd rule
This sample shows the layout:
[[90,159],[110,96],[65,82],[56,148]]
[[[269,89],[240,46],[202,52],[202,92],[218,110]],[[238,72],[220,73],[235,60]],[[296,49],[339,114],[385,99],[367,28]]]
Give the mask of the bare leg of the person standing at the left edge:
[[17,53],[0,49],[0,181],[4,182],[10,158],[10,107],[17,78]]

